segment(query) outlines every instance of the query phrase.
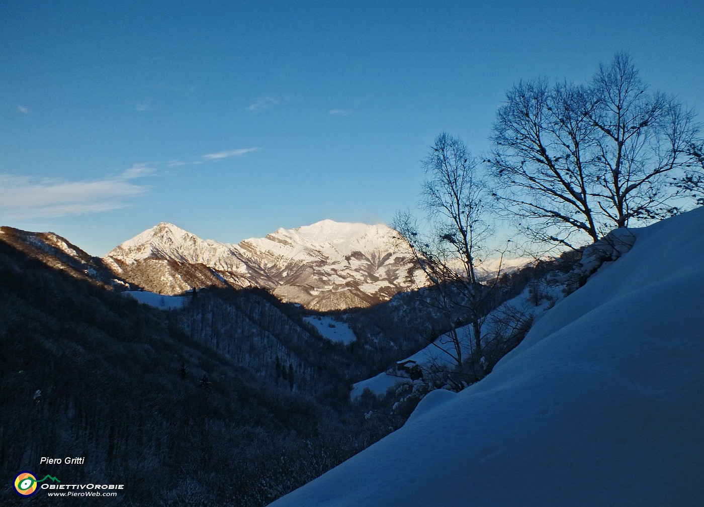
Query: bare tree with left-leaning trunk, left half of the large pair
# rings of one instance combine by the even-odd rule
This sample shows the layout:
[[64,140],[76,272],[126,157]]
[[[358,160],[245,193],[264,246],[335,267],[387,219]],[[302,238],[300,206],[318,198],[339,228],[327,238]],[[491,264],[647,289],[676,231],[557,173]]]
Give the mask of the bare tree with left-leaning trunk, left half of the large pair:
[[545,79],[520,82],[499,108],[492,139],[497,196],[528,221],[539,241],[572,247],[572,236],[598,239],[591,202],[590,148],[596,128],[583,111],[586,90]]

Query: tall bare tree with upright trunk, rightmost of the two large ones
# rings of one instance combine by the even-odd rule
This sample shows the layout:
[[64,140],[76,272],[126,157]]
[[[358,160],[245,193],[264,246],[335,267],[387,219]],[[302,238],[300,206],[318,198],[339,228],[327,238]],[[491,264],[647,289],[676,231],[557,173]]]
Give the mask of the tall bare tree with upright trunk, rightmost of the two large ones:
[[666,176],[691,162],[698,131],[693,111],[665,94],[649,94],[624,53],[599,67],[590,91],[593,105],[584,113],[601,134],[595,139],[594,195],[608,225],[676,212],[678,195]]

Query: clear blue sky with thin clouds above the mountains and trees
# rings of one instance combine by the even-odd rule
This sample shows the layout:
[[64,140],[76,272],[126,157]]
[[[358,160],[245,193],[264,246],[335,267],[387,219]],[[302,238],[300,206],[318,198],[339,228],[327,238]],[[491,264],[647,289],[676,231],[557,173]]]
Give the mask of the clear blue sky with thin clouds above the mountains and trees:
[[704,115],[704,4],[0,2],[0,224],[103,255],[158,222],[235,243],[413,206],[520,79],[628,51]]

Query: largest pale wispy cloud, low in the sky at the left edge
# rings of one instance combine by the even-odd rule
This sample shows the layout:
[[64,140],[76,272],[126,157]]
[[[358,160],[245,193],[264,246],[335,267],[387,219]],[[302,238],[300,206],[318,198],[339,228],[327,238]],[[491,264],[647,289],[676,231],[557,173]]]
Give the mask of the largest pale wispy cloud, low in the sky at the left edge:
[[0,174],[0,219],[64,217],[116,210],[127,200],[149,191],[149,186],[132,180],[151,174],[153,169],[134,165],[112,177],[65,181]]

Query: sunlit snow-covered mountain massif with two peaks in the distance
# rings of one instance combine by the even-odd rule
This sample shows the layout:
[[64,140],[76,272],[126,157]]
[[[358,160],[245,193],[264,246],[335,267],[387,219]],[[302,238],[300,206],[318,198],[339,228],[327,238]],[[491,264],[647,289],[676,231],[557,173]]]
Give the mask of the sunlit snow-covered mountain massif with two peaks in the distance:
[[161,223],[103,258],[127,281],[177,294],[210,285],[266,288],[320,311],[368,307],[417,285],[415,262],[384,225],[324,220],[237,245]]

